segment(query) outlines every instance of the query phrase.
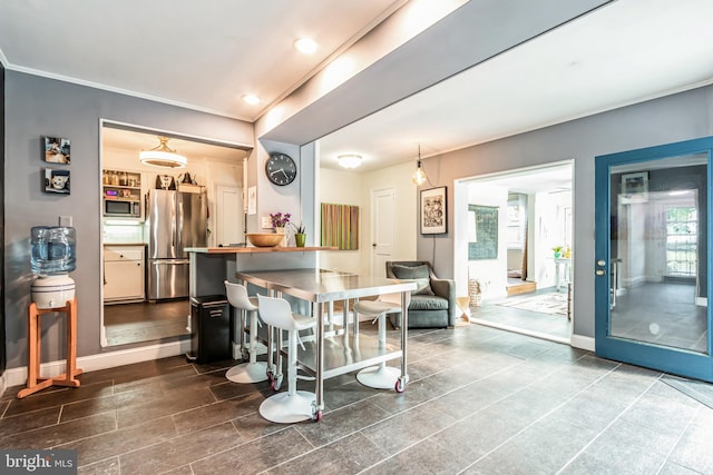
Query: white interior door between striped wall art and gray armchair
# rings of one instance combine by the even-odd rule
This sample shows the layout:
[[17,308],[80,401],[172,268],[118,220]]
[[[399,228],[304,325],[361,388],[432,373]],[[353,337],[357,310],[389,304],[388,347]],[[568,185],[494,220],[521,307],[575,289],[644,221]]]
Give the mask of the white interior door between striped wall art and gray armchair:
[[394,200],[393,188],[371,191],[371,274],[374,276],[385,275],[385,261],[393,259]]

